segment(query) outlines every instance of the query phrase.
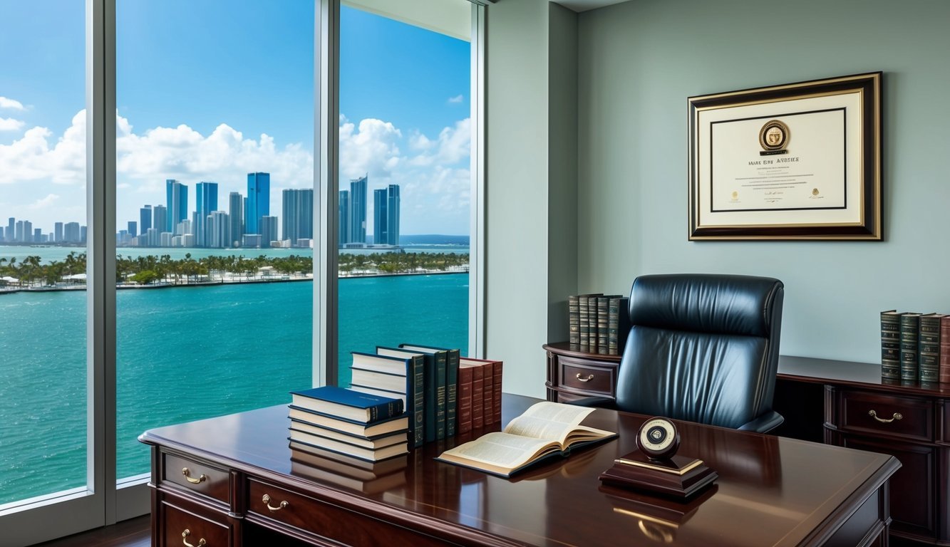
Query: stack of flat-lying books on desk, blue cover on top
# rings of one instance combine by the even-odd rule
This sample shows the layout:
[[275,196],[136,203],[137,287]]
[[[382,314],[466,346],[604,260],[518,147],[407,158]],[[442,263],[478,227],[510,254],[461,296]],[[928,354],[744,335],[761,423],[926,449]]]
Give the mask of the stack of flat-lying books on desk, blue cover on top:
[[292,450],[343,454],[379,462],[409,451],[409,416],[403,402],[344,387],[291,392]]

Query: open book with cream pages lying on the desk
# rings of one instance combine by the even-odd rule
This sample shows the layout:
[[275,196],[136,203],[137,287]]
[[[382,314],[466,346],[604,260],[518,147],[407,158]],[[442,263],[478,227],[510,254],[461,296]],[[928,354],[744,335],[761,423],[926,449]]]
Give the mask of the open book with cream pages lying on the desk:
[[508,477],[544,458],[567,456],[571,449],[617,437],[617,433],[580,425],[593,411],[584,406],[537,403],[504,431],[486,433],[446,450],[437,460]]

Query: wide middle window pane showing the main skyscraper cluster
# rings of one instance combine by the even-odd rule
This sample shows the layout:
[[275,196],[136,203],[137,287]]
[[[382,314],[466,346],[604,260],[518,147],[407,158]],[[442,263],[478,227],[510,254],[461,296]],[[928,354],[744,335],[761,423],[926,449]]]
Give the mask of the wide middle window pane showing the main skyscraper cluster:
[[119,0],[117,445],[312,385],[313,0]]

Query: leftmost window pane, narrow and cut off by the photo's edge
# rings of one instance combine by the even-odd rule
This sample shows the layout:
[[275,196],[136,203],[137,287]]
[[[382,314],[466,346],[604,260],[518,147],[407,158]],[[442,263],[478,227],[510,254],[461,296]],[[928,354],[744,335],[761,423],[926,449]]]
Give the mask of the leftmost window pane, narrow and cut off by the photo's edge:
[[3,512],[86,489],[85,3],[0,20]]

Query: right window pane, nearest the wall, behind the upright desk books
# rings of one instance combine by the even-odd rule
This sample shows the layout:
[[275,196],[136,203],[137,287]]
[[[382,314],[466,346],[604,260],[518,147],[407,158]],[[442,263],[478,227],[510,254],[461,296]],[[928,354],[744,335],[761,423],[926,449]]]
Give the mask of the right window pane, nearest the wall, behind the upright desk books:
[[353,350],[468,344],[471,4],[340,10],[337,384]]

